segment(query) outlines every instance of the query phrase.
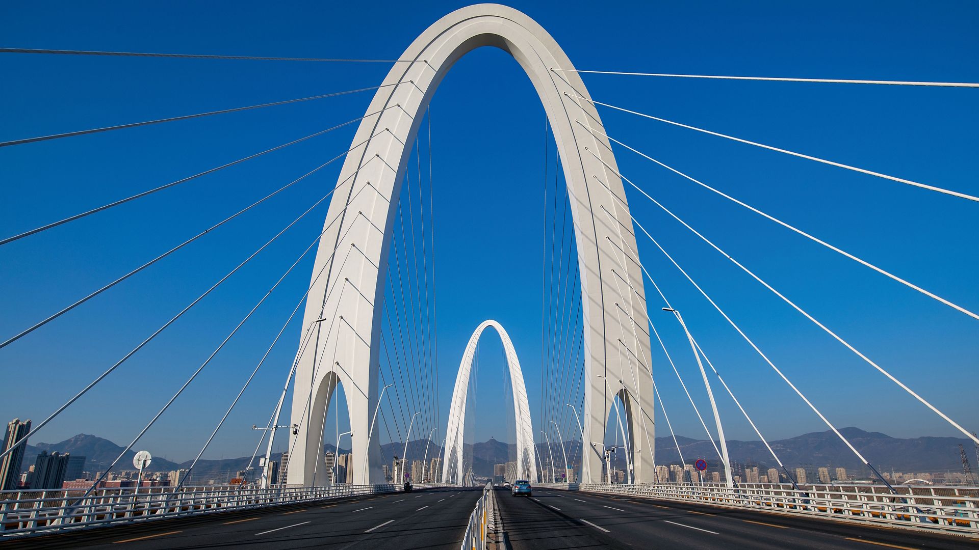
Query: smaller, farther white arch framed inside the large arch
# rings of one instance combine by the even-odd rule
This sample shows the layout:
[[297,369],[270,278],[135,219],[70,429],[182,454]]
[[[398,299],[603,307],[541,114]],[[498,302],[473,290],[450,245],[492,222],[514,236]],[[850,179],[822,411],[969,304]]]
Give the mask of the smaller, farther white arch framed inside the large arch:
[[524,386],[524,372],[520,369],[517,351],[506,334],[503,326],[491,319],[483,321],[469,337],[469,344],[462,353],[459,363],[459,374],[455,378],[455,389],[452,390],[452,405],[448,412],[448,427],[445,430],[445,458],[443,461],[442,479],[447,483],[461,483],[462,448],[464,429],[466,426],[466,395],[469,392],[469,373],[473,366],[473,356],[476,354],[476,344],[487,327],[492,327],[503,343],[506,353],[506,365],[510,370],[510,381],[513,385],[513,417],[517,424],[517,478],[521,480],[536,480],[536,455],[534,445],[534,426],[531,424],[531,406],[527,401],[527,388]]

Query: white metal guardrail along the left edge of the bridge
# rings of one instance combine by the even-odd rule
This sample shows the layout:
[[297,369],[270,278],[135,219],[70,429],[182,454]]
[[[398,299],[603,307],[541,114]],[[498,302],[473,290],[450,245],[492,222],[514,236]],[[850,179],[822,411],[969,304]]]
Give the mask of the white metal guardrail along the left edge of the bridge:
[[[419,483],[415,488],[442,486]],[[30,534],[281,506],[313,500],[395,492],[393,484],[320,487],[252,485],[0,491],[0,541]]]

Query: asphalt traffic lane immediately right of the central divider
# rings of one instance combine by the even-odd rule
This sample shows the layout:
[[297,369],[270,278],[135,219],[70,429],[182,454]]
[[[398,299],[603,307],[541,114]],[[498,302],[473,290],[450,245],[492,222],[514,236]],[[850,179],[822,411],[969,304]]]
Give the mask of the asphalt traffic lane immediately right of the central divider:
[[533,496],[511,496],[506,490],[496,491],[499,518],[496,528],[502,527],[513,550],[629,548],[539,502]]

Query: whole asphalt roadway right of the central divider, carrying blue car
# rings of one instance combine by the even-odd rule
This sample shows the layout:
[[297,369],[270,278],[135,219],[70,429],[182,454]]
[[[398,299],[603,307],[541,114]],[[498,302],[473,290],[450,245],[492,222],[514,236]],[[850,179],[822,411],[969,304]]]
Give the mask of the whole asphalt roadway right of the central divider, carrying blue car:
[[957,535],[578,491],[535,489],[528,498],[497,490],[496,502],[513,550],[979,548],[979,540]]

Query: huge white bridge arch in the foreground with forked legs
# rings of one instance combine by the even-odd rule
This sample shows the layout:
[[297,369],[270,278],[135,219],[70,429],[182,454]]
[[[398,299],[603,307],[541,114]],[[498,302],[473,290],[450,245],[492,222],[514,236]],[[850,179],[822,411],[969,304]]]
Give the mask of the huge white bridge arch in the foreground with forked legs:
[[[368,36],[369,36],[368,31]],[[585,34],[582,34],[586,38]],[[642,275],[622,181],[601,119],[557,42],[526,15],[505,6],[462,8],[412,42],[374,95],[353,138],[320,240],[297,354],[289,481],[312,483],[322,448],[317,431],[333,372],[348,395],[354,482],[381,481],[371,414],[378,398],[384,287],[400,182],[421,114],[445,73],[483,46],[513,56],[534,84],[553,128],[575,226],[582,281],[584,357],[583,481],[598,481],[600,447],[612,397],[626,390],[629,450],[636,481],[653,480],[652,384]],[[319,321],[322,319],[322,321]],[[317,322],[319,321],[319,322]],[[604,378],[600,378],[604,377]],[[607,384],[606,384],[607,382]],[[648,420],[647,420],[648,419]],[[364,465],[366,460],[366,465]],[[365,467],[366,466],[366,467]]]

